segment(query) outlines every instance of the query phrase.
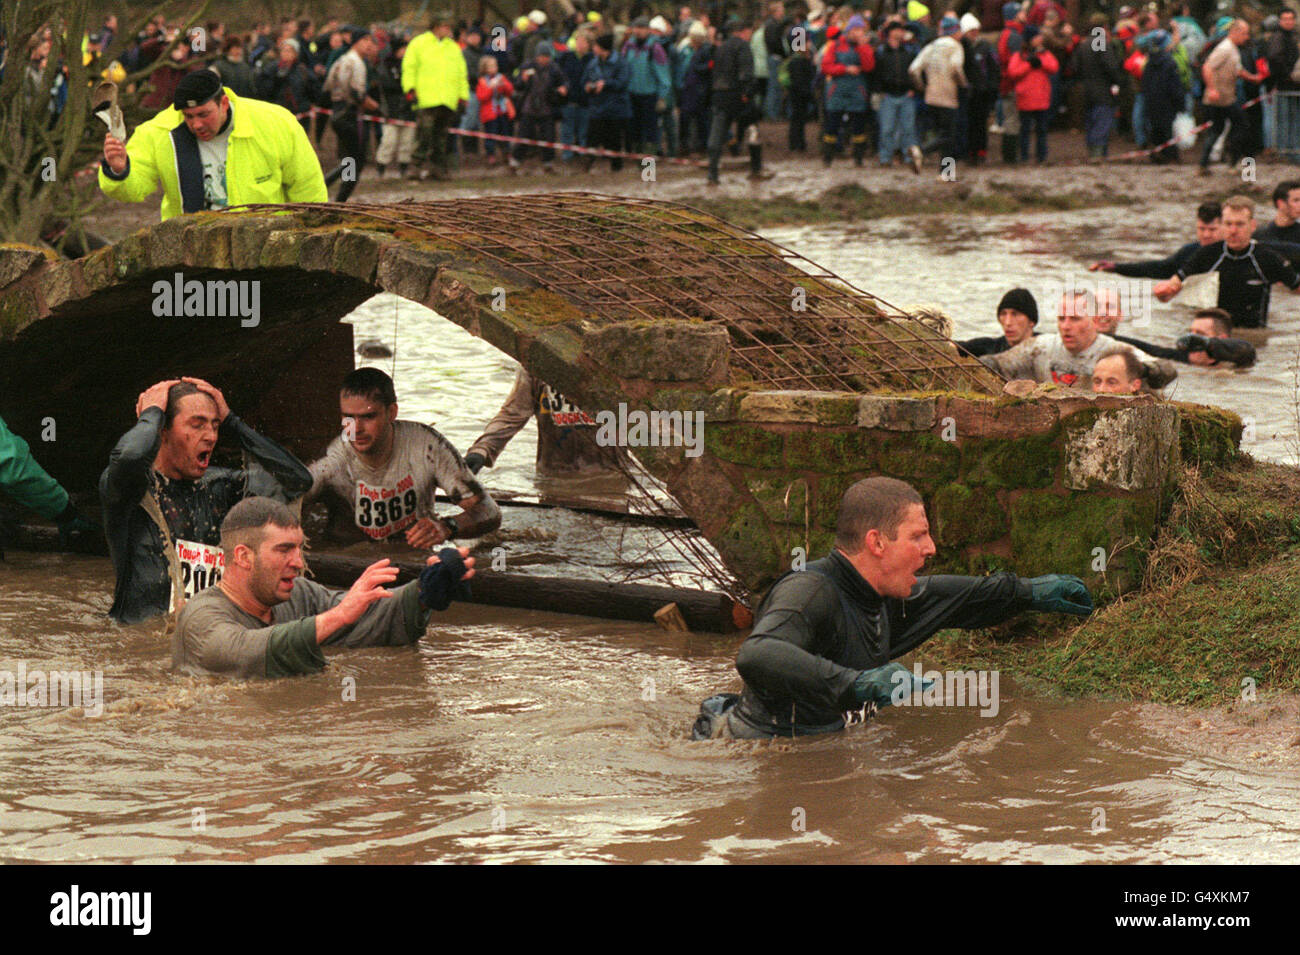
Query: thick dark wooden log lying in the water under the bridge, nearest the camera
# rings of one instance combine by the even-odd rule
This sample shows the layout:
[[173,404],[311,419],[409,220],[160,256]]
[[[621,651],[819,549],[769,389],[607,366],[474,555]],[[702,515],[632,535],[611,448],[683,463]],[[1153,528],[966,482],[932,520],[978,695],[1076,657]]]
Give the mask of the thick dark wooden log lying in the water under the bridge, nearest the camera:
[[[308,556],[308,564],[320,583],[350,587],[370,561],[317,551]],[[400,570],[399,583],[415,579],[424,568],[419,560],[398,560],[396,565]],[[578,613],[604,620],[640,620],[647,624],[655,620],[655,611],[675,603],[686,629],[703,633],[731,633],[737,629],[736,602],[725,594],[705,590],[510,574],[484,568],[469,582],[469,603]]]

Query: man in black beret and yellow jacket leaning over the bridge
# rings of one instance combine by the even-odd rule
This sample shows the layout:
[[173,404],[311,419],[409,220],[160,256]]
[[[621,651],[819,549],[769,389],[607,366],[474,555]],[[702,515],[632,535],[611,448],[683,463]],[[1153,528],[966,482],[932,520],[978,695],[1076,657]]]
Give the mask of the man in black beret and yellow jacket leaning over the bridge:
[[243,203],[329,200],[320,160],[283,107],[242,99],[209,70],[186,74],[173,105],[130,140],[104,136],[99,187],[125,203],[162,185],[162,218]]

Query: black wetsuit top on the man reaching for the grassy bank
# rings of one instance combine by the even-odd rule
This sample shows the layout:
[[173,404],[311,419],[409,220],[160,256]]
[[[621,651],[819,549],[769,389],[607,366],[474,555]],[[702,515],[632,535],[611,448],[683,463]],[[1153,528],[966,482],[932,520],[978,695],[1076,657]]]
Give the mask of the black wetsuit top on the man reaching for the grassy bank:
[[745,690],[733,716],[755,735],[844,729],[853,681],[944,628],[991,626],[1028,609],[1027,581],[920,577],[906,600],[881,598],[838,551],[777,581],[758,607],[736,669]]

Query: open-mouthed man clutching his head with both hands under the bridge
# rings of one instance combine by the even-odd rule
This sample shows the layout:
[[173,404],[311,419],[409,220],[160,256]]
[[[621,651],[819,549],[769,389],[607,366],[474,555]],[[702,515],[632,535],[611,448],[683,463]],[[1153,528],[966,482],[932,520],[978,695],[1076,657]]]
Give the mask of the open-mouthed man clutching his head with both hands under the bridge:
[[[221,521],[251,494],[289,502],[312,486],[302,461],[261,437],[202,378],[161,381],[135,401],[135,425],[121,437],[99,478],[108,551],[117,572],[113,608],[121,624],[179,609],[221,577]],[[220,438],[238,440],[256,466],[212,466]]]

